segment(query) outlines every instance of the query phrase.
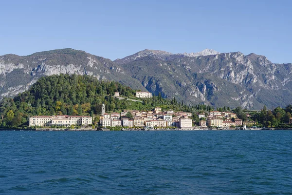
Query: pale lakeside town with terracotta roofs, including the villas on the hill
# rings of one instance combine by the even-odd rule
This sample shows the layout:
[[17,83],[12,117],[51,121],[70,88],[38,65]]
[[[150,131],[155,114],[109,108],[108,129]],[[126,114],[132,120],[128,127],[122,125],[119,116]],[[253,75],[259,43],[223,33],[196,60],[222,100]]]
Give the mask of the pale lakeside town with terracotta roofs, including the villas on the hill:
[[[115,92],[115,97],[119,97],[119,92]],[[137,98],[152,98],[148,92],[137,92]],[[121,113],[106,113],[105,104],[102,104],[101,116],[98,125],[103,128],[110,127],[140,127],[140,128],[180,128],[193,129],[196,127],[192,113],[183,111],[167,110],[161,107],[154,107],[151,111],[123,110]],[[210,111],[196,113],[199,117],[197,128],[235,128],[238,126],[252,126],[255,121],[242,121],[237,118],[237,114],[232,112]],[[90,116],[34,116],[29,119],[30,127],[72,127],[89,126],[92,124]]]

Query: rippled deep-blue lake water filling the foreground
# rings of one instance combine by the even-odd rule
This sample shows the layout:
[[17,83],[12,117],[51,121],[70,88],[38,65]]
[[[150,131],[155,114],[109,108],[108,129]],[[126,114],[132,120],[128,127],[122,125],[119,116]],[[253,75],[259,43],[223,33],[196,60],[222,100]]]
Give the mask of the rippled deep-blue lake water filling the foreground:
[[0,194],[292,194],[292,131],[0,131]]

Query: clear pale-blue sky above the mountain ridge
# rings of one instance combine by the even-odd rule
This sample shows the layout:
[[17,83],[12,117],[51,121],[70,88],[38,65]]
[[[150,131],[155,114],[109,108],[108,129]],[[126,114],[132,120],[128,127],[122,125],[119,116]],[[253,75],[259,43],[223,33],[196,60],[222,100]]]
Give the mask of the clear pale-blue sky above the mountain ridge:
[[0,55],[240,51],[292,62],[291,0],[3,0]]

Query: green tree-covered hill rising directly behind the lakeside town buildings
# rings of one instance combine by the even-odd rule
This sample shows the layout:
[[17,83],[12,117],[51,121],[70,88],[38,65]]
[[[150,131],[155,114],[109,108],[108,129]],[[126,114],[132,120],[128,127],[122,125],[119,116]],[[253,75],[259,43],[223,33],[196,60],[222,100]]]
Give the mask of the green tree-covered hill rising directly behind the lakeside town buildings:
[[[125,99],[114,98],[120,92]],[[0,127],[27,125],[35,115],[88,115],[101,114],[104,103],[107,112],[124,109],[151,110],[154,106],[163,109],[183,110],[194,113],[199,107],[211,110],[210,106],[187,106],[182,102],[164,99],[159,94],[143,102],[130,101],[136,91],[114,81],[99,81],[91,76],[53,75],[40,78],[32,87],[15,98],[3,98],[0,102]],[[195,116],[196,117],[196,116]]]

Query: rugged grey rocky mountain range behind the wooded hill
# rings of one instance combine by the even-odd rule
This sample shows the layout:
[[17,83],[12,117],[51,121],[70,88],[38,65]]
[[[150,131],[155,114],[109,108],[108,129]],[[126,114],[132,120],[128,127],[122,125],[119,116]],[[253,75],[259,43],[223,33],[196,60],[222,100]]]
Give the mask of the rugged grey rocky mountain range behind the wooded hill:
[[146,49],[112,61],[67,48],[0,56],[0,98],[27,90],[40,77],[62,73],[115,80],[190,104],[272,109],[291,103],[291,72],[291,63],[276,64],[254,53],[205,49],[172,54]]

